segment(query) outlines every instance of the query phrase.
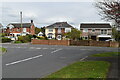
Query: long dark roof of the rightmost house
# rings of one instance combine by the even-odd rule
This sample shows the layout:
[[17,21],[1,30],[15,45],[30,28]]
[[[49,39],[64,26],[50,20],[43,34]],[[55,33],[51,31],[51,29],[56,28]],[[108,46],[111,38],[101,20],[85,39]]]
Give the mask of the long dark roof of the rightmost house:
[[108,23],[82,23],[80,28],[112,28]]

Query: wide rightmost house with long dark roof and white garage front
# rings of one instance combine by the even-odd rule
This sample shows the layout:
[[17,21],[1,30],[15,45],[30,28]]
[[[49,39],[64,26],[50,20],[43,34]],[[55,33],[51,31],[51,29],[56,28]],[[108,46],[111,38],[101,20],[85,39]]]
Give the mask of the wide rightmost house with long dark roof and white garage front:
[[80,30],[85,40],[105,41],[112,38],[112,27],[108,23],[82,23]]

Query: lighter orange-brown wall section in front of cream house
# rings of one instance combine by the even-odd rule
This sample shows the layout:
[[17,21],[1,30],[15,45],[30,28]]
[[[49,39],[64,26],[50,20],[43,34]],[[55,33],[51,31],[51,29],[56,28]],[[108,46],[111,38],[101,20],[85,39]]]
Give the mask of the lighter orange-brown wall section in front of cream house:
[[42,45],[69,45],[68,40],[38,40],[33,39],[32,44],[42,44]]

